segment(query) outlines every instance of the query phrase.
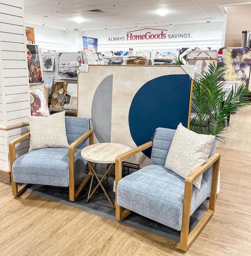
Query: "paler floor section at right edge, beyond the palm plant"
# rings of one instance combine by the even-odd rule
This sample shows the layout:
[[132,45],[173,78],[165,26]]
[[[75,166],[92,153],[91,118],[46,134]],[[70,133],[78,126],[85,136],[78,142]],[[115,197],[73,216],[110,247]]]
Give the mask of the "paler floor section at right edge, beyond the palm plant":
[[230,126],[224,134],[226,144],[217,141],[216,146],[251,151],[251,105],[231,114]]

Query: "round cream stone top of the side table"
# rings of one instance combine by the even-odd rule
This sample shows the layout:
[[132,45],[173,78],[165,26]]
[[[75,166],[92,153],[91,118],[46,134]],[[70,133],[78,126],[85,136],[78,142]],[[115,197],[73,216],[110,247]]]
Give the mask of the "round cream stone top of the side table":
[[118,143],[97,143],[81,150],[82,158],[89,162],[110,164],[115,163],[117,156],[131,150],[130,147]]

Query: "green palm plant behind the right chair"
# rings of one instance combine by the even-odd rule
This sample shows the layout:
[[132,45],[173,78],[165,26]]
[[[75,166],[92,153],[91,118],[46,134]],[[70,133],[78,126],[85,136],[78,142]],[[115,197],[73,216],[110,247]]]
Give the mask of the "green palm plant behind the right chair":
[[[238,88],[232,87],[228,97],[225,97],[226,92],[223,88],[226,82],[220,80],[226,70],[227,68],[222,65],[216,66],[212,63],[208,72],[194,80],[192,112],[195,116],[190,122],[190,129],[194,132],[215,135],[222,142],[224,142],[222,134],[228,129],[226,120],[230,112],[250,104],[245,97],[250,92],[244,84]],[[203,123],[206,123],[206,127],[203,127]]]

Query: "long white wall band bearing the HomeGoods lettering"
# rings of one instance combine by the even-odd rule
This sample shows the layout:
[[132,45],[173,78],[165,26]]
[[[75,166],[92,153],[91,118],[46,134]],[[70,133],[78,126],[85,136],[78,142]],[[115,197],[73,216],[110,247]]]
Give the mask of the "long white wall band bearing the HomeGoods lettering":
[[[206,23],[206,24],[192,24],[192,25],[177,25],[177,26],[163,26],[140,29],[116,29],[116,30],[99,30],[88,31],[88,36],[98,38],[99,48],[107,47],[109,45],[118,50],[120,46],[128,48],[135,48],[139,45],[151,45],[153,48],[156,45],[176,44],[180,46],[191,45],[205,45],[211,46],[214,44],[221,44],[222,40],[222,26],[223,23]],[[86,33],[86,32],[85,32]],[[218,47],[218,46],[217,46]]]

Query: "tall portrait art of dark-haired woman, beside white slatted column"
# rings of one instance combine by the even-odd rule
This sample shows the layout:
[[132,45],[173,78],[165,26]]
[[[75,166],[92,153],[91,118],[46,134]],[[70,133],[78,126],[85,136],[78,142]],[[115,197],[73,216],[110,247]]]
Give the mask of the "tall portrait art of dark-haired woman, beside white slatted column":
[[29,71],[29,84],[40,84],[43,82],[41,59],[37,45],[27,44],[27,62]]

